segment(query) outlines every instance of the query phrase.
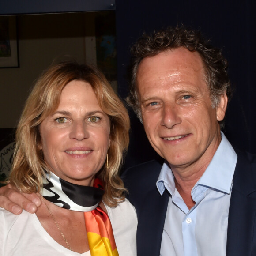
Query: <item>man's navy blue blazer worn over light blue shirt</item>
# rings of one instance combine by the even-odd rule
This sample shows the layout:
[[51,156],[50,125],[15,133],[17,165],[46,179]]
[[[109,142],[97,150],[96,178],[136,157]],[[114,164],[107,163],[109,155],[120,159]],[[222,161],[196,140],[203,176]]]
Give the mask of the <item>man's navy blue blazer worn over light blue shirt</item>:
[[[256,156],[237,151],[230,199],[226,256],[256,256]],[[156,181],[162,161],[150,161],[122,174],[128,199],[138,215],[138,256],[159,256],[169,192]]]

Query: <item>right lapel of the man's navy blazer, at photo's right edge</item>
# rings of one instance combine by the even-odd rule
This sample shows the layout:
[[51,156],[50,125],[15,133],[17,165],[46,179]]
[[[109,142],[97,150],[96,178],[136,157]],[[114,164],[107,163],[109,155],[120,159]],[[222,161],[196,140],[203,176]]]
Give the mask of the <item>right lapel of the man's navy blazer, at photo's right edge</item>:
[[[256,187],[255,168],[238,154],[230,199],[227,256],[256,255]],[[254,166],[255,167],[255,166]]]

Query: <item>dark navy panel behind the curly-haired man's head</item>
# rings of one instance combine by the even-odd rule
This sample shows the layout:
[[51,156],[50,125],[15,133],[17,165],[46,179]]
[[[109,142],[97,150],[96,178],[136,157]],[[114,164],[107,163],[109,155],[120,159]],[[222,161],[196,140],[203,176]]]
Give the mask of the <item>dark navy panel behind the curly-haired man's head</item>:
[[[223,49],[229,61],[235,92],[228,105],[224,132],[236,147],[256,153],[255,10],[255,0],[116,0],[118,93],[123,98],[127,96],[128,48],[143,31],[181,23],[200,28],[207,38],[212,38],[213,45]],[[147,152],[148,143],[143,141],[146,137],[141,139],[145,134],[142,125],[134,115],[131,117],[127,159],[141,162],[147,156],[150,159],[151,152]],[[140,152],[144,153],[142,157]]]

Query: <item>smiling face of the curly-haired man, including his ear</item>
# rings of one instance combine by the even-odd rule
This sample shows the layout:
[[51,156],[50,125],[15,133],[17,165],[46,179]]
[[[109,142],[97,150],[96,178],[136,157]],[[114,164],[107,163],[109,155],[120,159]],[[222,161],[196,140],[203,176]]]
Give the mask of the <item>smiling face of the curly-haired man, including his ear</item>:
[[218,121],[224,118],[227,97],[221,96],[213,109],[204,74],[200,55],[183,47],[139,64],[136,81],[144,128],[154,150],[172,168],[203,169],[220,143]]

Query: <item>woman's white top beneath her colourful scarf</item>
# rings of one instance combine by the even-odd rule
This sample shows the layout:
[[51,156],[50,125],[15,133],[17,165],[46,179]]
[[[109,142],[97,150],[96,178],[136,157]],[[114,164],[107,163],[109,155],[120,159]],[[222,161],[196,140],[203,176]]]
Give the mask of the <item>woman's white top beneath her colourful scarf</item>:
[[[119,256],[136,256],[136,211],[128,200],[106,206]],[[58,244],[41,226],[36,214],[14,215],[0,208],[0,256],[90,256]]]

